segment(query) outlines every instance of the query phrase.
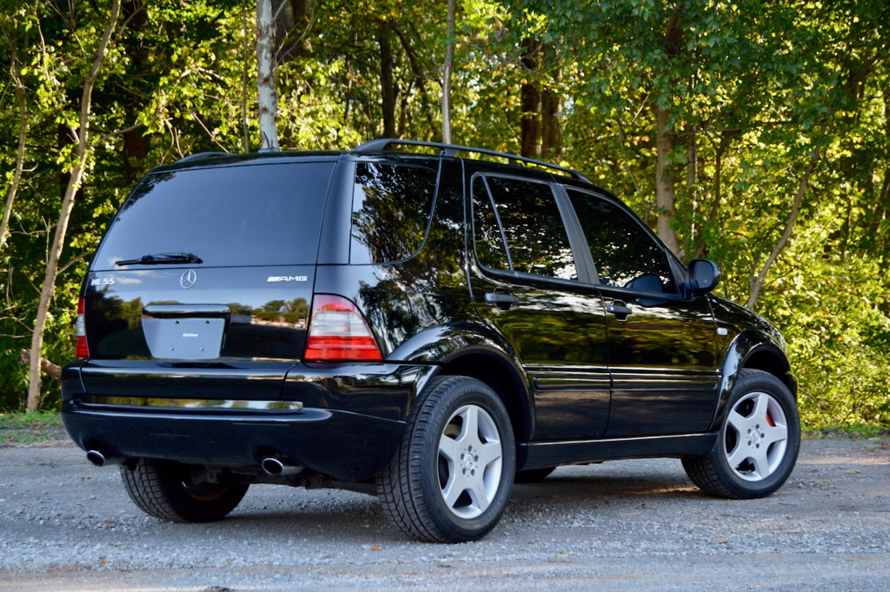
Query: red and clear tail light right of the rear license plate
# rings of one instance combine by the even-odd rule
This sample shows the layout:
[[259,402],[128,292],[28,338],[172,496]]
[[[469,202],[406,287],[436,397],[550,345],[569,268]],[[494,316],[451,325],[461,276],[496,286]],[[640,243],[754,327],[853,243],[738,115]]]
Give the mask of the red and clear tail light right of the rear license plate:
[[316,294],[306,340],[305,361],[381,361],[368,322],[343,296]]

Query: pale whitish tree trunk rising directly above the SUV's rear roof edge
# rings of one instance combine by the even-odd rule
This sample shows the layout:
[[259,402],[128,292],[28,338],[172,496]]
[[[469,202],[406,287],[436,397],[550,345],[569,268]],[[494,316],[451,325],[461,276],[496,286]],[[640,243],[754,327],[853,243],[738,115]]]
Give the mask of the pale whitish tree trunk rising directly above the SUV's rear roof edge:
[[260,149],[278,150],[278,96],[275,93],[275,61],[272,45],[275,26],[271,0],[256,0],[256,91],[260,107]]

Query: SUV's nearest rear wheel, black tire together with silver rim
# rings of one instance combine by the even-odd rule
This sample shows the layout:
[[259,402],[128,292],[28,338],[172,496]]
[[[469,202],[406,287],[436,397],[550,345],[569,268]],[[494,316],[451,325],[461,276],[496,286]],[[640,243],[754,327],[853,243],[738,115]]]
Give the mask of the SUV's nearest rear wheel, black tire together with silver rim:
[[481,539],[504,514],[516,465],[504,403],[469,377],[442,377],[411,411],[399,450],[377,478],[384,515],[428,542]]

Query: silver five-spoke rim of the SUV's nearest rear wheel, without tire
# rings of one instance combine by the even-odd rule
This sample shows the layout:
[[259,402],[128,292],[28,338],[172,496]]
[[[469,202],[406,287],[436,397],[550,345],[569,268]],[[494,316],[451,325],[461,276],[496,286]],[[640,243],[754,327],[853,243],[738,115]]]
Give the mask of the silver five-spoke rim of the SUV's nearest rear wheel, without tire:
[[439,437],[439,486],[449,510],[461,518],[481,515],[503,478],[498,426],[477,405],[455,411]]

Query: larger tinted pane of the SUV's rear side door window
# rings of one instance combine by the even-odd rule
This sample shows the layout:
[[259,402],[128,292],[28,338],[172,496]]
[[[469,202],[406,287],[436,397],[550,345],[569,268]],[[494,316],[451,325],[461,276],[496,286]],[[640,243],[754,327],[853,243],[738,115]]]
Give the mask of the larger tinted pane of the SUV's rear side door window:
[[577,279],[569,238],[546,183],[486,177],[514,272]]

